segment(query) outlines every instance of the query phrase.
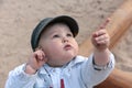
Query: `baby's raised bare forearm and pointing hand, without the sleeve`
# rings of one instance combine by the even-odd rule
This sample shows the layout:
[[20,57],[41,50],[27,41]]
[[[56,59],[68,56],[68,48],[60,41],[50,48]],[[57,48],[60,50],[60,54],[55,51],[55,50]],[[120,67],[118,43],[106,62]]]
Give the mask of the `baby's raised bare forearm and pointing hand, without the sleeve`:
[[105,29],[109,20],[101,25],[101,28],[92,33],[91,42],[95,46],[94,62],[98,66],[105,66],[109,63],[110,51],[108,48],[110,44],[110,36]]

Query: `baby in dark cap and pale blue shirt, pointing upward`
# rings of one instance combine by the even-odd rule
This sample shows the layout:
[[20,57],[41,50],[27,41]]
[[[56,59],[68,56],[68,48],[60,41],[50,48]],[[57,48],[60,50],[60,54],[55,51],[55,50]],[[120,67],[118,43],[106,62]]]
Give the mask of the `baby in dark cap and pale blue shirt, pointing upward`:
[[89,57],[78,55],[77,22],[68,15],[46,18],[33,30],[33,54],[26,64],[10,72],[6,88],[92,88],[114,67],[105,28],[91,34]]

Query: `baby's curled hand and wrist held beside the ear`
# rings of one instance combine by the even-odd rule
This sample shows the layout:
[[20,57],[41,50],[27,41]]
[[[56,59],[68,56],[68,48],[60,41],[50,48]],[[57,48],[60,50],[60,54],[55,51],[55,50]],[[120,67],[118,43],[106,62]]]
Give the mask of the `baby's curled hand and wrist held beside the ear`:
[[26,64],[25,73],[28,74],[36,73],[36,70],[41,68],[46,62],[47,58],[44,52],[42,50],[35,51]]

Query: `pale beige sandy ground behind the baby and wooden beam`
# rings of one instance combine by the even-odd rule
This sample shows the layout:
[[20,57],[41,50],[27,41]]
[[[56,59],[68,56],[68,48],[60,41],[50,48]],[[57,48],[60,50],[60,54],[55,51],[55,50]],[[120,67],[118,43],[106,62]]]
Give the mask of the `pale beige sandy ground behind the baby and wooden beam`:
[[[76,37],[80,44],[124,0],[0,0],[0,88],[8,73],[28,61],[32,50],[31,32],[46,16],[68,14],[80,26]],[[117,68],[132,72],[132,29],[112,52]]]

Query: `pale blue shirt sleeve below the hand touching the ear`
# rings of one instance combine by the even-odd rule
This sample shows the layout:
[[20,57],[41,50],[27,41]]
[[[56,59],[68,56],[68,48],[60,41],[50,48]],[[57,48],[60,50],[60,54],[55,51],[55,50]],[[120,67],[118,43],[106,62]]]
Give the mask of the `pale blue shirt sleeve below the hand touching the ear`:
[[9,73],[6,88],[33,88],[37,73],[35,75],[29,75],[24,72],[25,64],[14,68]]

